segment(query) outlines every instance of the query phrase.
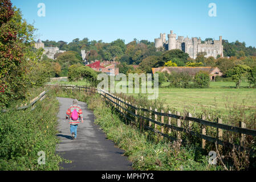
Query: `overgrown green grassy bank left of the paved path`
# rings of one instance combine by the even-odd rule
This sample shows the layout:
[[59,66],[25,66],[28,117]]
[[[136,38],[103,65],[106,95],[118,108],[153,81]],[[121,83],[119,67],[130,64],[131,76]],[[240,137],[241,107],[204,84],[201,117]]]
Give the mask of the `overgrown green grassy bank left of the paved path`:
[[[41,90],[38,90],[40,92]],[[0,170],[58,170],[55,154],[59,104],[52,92],[34,110],[10,111],[0,115]],[[38,152],[45,164],[38,164]]]

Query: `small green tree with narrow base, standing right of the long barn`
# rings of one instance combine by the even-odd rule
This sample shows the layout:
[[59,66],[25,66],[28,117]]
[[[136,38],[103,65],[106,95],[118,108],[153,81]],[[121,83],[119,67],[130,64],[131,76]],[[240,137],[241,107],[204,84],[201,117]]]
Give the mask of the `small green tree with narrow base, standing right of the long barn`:
[[242,77],[245,76],[247,72],[250,71],[250,67],[247,65],[235,65],[234,68],[231,69],[232,72],[232,80],[235,82],[235,87],[239,89],[240,83],[242,81]]

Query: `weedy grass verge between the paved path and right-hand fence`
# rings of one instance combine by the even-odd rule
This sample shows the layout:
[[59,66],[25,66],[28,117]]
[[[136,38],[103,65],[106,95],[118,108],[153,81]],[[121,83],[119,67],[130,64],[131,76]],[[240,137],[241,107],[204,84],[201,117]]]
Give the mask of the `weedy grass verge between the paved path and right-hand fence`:
[[125,150],[135,170],[218,170],[220,166],[208,163],[208,154],[199,147],[181,146],[178,142],[158,140],[150,132],[126,125],[120,115],[115,113],[98,95],[84,92],[64,92],[56,89],[59,97],[77,98],[85,101],[94,111],[95,122],[101,126],[108,139]]

